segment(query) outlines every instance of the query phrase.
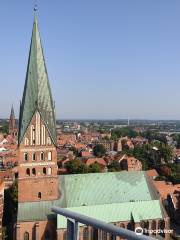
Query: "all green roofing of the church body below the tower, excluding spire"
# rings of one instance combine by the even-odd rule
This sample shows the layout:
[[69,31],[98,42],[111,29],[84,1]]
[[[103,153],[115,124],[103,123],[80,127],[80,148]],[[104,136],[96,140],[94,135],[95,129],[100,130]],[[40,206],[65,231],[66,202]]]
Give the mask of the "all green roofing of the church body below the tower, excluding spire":
[[[59,191],[60,198],[56,201],[19,203],[18,221],[38,221],[53,217],[52,206],[75,210],[107,222],[106,213],[108,215],[111,207],[119,209],[116,215],[110,215],[111,222],[118,218],[119,221],[125,221],[130,215],[135,219],[148,219],[162,218],[164,214],[144,172],[62,175],[59,176]],[[147,211],[142,212],[145,206]],[[148,211],[150,208],[154,210]],[[148,212],[152,212],[151,216]],[[58,219],[62,220],[62,225],[58,226],[63,227],[65,220],[60,216]]]

